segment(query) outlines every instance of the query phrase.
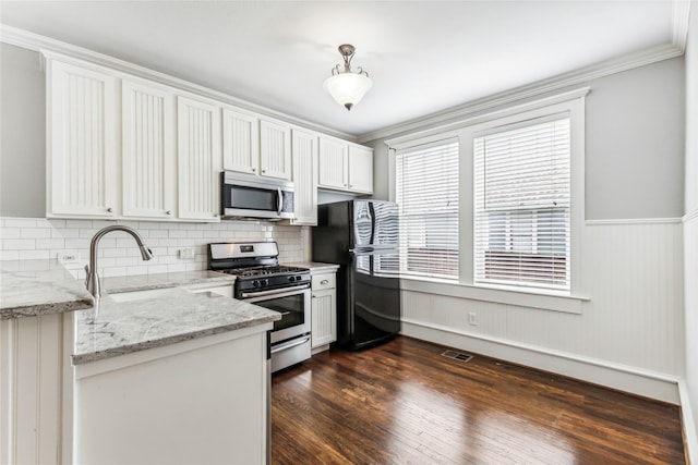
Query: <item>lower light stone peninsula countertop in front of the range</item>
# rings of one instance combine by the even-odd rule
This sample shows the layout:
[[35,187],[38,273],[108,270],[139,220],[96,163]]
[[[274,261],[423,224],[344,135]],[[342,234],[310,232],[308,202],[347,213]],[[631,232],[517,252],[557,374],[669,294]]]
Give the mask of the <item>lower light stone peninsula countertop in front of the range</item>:
[[105,295],[76,318],[73,365],[276,321],[277,311],[212,292],[164,289],[156,296],[115,302]]

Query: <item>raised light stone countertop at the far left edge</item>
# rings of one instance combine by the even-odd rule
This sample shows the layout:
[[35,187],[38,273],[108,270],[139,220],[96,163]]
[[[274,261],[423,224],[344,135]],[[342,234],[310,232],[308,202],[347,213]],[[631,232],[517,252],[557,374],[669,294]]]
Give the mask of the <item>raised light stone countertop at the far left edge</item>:
[[93,303],[58,260],[0,261],[0,320],[83,310]]

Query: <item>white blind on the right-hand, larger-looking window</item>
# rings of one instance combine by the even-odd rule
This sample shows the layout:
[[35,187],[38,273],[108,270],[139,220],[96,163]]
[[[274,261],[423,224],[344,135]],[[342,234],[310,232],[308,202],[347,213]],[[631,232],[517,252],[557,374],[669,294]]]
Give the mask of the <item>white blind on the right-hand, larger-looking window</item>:
[[474,281],[569,291],[570,120],[477,135]]

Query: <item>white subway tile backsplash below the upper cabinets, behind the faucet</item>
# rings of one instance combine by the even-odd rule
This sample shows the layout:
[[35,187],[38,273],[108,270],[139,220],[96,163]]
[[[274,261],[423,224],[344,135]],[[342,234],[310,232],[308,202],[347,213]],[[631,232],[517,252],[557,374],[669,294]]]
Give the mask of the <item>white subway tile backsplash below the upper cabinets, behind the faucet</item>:
[[[134,228],[153,249],[149,261],[141,259],[133,237],[111,232],[99,242],[99,269],[105,277],[206,269],[206,244],[210,242],[277,241],[280,261],[302,261],[309,243],[309,228],[284,227],[255,221],[176,223],[151,221],[62,220],[0,218],[0,260],[47,259],[59,254],[79,254],[77,262],[65,264],[79,279],[89,260],[89,244],[99,229],[113,224]],[[193,248],[193,260],[180,260],[179,250]]]

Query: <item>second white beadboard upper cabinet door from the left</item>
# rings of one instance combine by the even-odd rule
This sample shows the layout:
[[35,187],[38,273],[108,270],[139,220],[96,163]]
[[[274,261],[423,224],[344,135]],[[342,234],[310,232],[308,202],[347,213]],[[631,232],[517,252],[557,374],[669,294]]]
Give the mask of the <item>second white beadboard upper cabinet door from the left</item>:
[[121,85],[123,216],[174,217],[174,96],[124,79]]

